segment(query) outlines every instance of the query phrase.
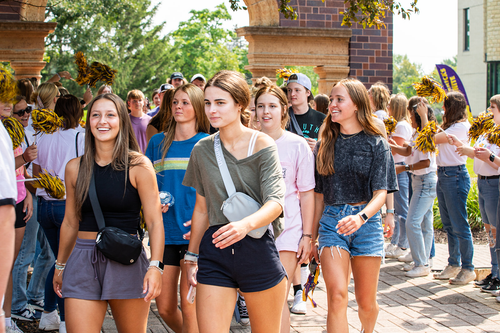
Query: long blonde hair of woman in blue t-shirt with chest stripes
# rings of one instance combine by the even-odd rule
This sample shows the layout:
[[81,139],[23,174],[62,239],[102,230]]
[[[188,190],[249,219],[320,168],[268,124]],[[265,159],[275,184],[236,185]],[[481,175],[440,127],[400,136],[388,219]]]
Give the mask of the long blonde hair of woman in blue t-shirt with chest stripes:
[[[208,121],[208,118],[205,115],[205,103],[203,99],[203,92],[196,87],[194,84],[187,83],[183,84],[177,89],[175,89],[175,92],[173,93],[173,96],[175,96],[175,93],[177,91],[183,91],[187,94],[189,97],[189,101],[191,102],[192,108],[194,109],[194,114],[196,115],[196,122],[194,125],[194,130],[196,133],[199,132],[204,132],[204,133],[209,133],[210,131],[210,122]],[[165,96],[163,96],[163,99],[165,99]],[[172,98],[173,99],[173,98]],[[170,102],[171,104],[171,102]],[[172,109],[172,106],[170,105],[170,110]],[[171,111],[170,111],[171,112]],[[163,162],[166,156],[166,153],[168,152],[168,149],[170,148],[170,145],[172,144],[173,141],[173,136],[175,135],[175,126],[177,125],[177,122],[175,121],[175,118],[173,116],[170,116],[168,119],[168,123],[165,128],[165,135],[163,137],[163,140],[161,140],[161,161]]]

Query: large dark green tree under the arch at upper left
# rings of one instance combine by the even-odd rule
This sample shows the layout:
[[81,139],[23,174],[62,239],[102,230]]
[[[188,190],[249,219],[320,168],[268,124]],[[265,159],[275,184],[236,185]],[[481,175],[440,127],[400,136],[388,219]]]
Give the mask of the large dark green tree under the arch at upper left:
[[[120,97],[129,89],[149,95],[165,82],[173,67],[169,39],[160,37],[163,24],[152,24],[157,7],[149,7],[149,0],[72,0],[50,6],[46,15],[57,27],[46,38],[49,62],[42,74],[49,77],[67,70],[76,77],[73,54],[82,51],[89,62],[99,61],[117,70],[113,92]],[[86,89],[72,81],[61,83],[77,96]]]

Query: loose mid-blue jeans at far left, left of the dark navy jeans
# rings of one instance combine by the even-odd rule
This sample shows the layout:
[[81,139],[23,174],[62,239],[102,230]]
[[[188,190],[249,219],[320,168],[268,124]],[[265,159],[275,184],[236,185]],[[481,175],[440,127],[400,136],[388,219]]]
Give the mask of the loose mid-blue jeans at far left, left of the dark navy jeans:
[[[12,269],[12,311],[22,311],[27,306],[28,300],[40,301],[43,300],[45,291],[45,278],[48,270],[54,263],[54,256],[46,242],[45,235],[38,228],[36,221],[36,196],[28,192],[28,195],[33,199],[33,216],[26,223],[24,237],[21,243],[21,249],[15,260]],[[38,242],[37,242],[38,240]],[[35,257],[35,249],[37,245],[41,247],[41,252],[38,258]],[[29,285],[26,290],[26,279],[29,264],[34,260],[33,273]]]

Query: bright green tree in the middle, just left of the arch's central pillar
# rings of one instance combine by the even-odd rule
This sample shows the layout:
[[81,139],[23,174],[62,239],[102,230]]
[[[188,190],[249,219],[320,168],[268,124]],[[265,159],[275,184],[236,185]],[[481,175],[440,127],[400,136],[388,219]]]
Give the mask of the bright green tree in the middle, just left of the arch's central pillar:
[[219,4],[213,11],[193,9],[190,13],[191,17],[170,33],[176,51],[173,58],[176,70],[211,77],[221,69],[230,69],[251,77],[243,68],[248,64],[246,45],[233,30],[221,26],[224,20],[231,19],[225,5]]

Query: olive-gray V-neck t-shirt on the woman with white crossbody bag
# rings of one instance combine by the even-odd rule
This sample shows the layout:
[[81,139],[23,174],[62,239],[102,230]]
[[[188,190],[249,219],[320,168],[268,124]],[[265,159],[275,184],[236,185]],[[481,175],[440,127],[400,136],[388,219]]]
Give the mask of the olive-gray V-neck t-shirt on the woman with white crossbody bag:
[[[210,226],[229,223],[220,210],[228,195],[215,159],[213,137],[213,134],[207,136],[194,145],[182,181],[182,185],[194,187],[205,197]],[[237,160],[220,144],[237,192],[249,195],[261,205],[276,201],[284,207],[285,185],[276,145]],[[272,222],[272,227],[274,237],[278,237],[283,231],[283,212]]]

